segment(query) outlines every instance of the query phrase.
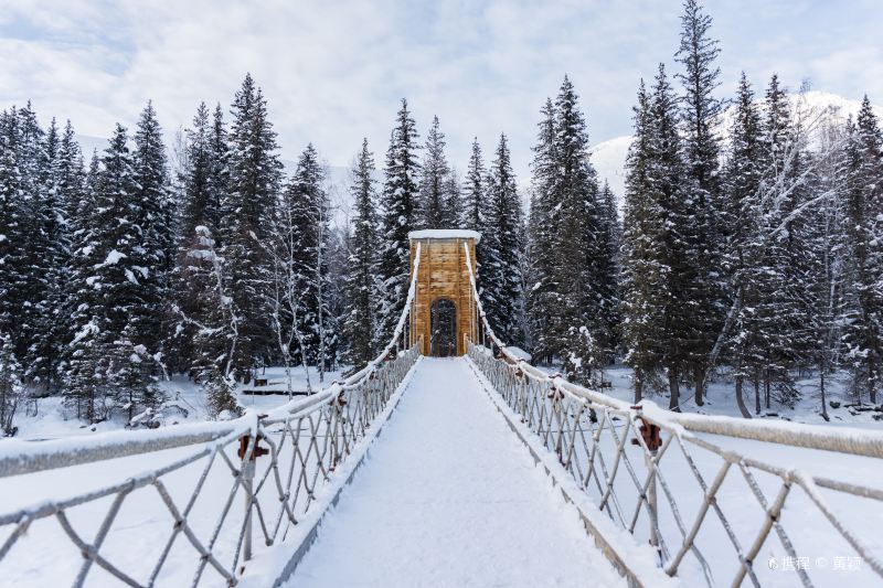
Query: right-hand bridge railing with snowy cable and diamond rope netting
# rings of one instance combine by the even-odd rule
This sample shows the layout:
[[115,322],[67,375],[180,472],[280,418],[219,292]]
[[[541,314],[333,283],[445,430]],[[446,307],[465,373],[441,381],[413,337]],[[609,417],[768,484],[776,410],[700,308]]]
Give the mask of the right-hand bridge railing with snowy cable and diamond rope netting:
[[[667,574],[709,586],[795,581],[783,574],[804,586],[810,576],[880,582],[883,488],[866,480],[883,485],[883,434],[677,414],[549,375],[493,333],[468,248],[466,260],[481,328],[470,360],[582,491],[656,548]],[[837,475],[819,473],[826,466]]]

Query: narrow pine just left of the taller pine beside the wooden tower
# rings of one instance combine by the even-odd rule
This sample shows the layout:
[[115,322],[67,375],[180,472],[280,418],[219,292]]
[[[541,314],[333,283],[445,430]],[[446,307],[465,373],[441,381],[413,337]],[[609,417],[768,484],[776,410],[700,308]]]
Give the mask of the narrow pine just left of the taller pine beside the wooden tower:
[[376,311],[380,306],[377,276],[377,214],[374,188],[374,157],[362,141],[352,169],[350,193],[355,205],[352,218],[349,263],[344,274],[343,333],[349,343],[344,361],[354,365],[370,362],[380,351]]

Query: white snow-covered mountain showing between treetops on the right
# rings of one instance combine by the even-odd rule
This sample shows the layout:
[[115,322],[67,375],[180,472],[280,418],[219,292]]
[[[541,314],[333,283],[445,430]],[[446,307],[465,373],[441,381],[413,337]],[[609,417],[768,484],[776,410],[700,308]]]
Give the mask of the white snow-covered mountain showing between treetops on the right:
[[[851,116],[855,118],[861,108],[861,100],[852,100],[829,92],[810,90],[802,94],[790,95],[791,107],[800,107],[801,111],[807,113],[810,120],[819,115],[828,115],[834,120],[845,120]],[[759,104],[759,103],[758,103]],[[873,105],[874,113],[883,119],[883,106]],[[726,141],[728,129],[732,125],[735,108],[727,108],[722,117],[721,136]],[[621,209],[626,194],[626,156],[631,145],[631,136],[624,135],[607,141],[602,141],[591,149],[592,163],[598,172],[598,180],[607,180],[614,195]]]

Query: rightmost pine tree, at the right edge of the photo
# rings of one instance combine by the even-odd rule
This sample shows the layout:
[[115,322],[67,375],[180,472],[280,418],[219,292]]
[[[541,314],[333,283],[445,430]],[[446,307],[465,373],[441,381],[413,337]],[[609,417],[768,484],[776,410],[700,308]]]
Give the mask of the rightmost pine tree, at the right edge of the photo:
[[844,342],[859,398],[866,392],[871,404],[876,404],[883,361],[883,132],[866,96],[850,130],[844,209],[851,288]]

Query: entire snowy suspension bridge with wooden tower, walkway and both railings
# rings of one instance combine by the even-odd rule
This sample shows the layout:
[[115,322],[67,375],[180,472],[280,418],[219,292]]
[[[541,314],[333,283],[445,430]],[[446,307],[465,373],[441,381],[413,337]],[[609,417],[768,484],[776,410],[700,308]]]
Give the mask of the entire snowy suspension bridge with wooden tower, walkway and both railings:
[[479,235],[411,237],[391,341],[320,393],[0,443],[0,586],[883,582],[883,432],[568,383],[488,325]]

